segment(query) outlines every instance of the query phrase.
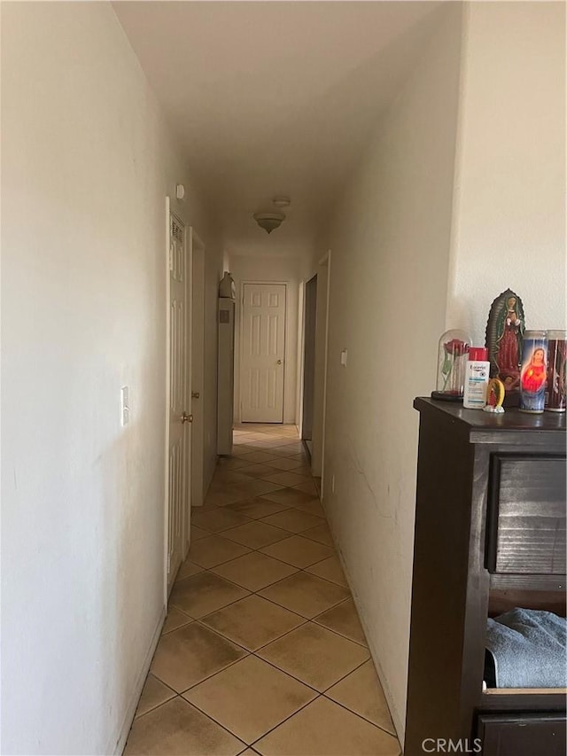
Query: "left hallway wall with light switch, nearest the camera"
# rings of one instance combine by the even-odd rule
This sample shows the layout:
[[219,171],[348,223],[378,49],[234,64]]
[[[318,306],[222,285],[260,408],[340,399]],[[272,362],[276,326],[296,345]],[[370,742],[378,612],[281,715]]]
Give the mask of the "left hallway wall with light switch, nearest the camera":
[[1,750],[106,754],[164,611],[165,196],[190,176],[110,4],[3,4],[2,33]]

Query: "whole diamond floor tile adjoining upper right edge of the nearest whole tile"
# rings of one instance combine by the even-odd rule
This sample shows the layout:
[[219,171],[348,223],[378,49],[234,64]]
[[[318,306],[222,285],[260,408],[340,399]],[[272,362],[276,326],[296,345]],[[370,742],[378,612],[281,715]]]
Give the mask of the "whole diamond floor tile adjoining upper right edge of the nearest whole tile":
[[369,651],[307,622],[269,643],[257,655],[322,692],[366,661]]

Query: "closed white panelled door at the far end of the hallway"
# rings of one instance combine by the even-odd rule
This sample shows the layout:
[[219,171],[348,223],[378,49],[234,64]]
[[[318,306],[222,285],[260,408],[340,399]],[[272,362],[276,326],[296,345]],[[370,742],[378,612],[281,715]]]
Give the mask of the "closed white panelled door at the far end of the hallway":
[[283,423],[285,284],[244,284],[241,418]]

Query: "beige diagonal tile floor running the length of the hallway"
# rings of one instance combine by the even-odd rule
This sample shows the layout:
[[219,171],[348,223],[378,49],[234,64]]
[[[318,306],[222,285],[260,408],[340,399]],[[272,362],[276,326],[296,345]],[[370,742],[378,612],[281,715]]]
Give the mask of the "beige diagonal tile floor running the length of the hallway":
[[136,754],[400,754],[294,426],[238,426],[192,512]]

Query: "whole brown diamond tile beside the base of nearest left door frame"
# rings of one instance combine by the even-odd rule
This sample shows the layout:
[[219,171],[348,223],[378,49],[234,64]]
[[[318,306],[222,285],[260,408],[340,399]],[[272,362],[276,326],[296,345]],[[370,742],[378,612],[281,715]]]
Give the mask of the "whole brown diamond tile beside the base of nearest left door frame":
[[169,603],[198,619],[247,595],[245,588],[206,572],[175,583]]

